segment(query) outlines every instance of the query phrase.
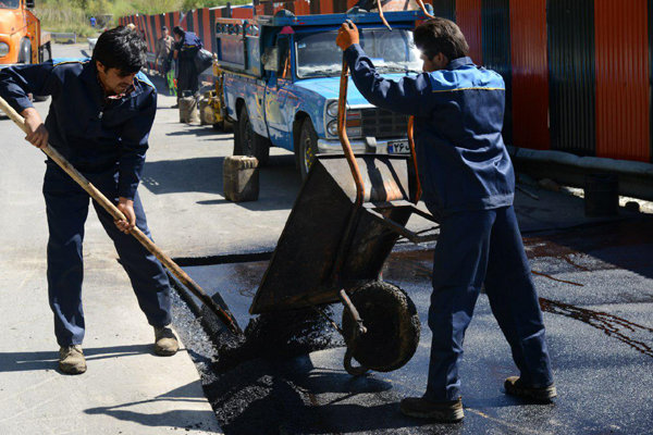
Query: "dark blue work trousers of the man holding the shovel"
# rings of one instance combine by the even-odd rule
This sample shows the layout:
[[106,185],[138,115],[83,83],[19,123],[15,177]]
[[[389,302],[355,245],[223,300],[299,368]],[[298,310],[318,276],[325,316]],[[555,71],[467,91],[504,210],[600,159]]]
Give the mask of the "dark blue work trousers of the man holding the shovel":
[[[118,202],[115,170],[84,175],[109,200]],[[60,346],[81,345],[84,339],[82,281],[84,276],[82,241],[88,215],[89,196],[66,173],[48,163],[44,196],[50,237],[48,240],[48,295],[54,313],[54,334]],[[171,322],[170,283],[161,263],[132,235],[124,234],[113,217],[93,201],[100,223],[113,240],[121,263],[134,288],[140,309],[152,326]],[[136,226],[150,237],[145,212],[134,197]]]

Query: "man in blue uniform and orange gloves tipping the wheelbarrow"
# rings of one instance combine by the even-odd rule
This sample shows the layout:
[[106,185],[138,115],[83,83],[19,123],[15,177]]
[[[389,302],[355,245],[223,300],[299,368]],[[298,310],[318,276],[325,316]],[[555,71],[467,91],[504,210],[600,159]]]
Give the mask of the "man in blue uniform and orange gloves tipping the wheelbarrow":
[[448,20],[428,20],[414,37],[423,73],[398,82],[375,72],[352,22],[343,24],[336,39],[362,96],[379,108],[415,115],[422,199],[441,223],[427,390],[402,400],[401,410],[441,422],[464,418],[458,366],[483,285],[520,373],[506,380],[506,393],[550,401],[556,390],[542,312],[515,217],[515,174],[501,135],[504,80],[472,63],[465,36]]

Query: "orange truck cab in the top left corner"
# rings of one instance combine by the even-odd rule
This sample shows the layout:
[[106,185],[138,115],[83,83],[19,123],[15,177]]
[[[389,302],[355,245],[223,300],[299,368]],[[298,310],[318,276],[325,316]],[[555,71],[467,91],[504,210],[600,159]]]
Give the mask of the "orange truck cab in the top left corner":
[[48,35],[32,13],[34,0],[0,0],[0,67],[51,58]]

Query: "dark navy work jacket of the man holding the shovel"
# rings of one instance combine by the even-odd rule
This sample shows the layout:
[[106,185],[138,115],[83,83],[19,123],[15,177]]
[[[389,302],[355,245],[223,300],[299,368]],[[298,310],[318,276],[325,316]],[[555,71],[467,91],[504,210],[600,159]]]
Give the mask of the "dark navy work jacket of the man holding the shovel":
[[0,96],[19,113],[27,94],[52,96],[46,117],[49,142],[82,173],[114,169],[118,195],[133,199],[157,111],[157,90],[145,74],[118,99],[104,97],[95,62],[51,60],[0,71]]

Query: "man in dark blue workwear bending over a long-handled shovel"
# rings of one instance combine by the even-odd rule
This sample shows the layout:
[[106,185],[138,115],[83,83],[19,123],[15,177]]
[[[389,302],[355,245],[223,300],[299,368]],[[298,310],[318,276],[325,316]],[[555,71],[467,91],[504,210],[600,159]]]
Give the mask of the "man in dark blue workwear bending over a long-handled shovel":
[[[136,191],[157,110],[156,89],[139,72],[145,50],[137,33],[116,27],[100,35],[93,59],[52,60],[2,70],[0,96],[25,117],[27,141],[38,148],[49,142],[126,216],[126,221],[114,222],[93,202],[115,245],[140,309],[155,327],[156,353],[171,356],[178,344],[169,326],[168,275],[155,256],[130,235],[136,225],[149,237]],[[28,94],[52,96],[45,124]],[[60,346],[59,366],[64,373],[79,374],[86,371],[81,346],[82,240],[89,196],[50,159],[46,164],[48,294]]]

